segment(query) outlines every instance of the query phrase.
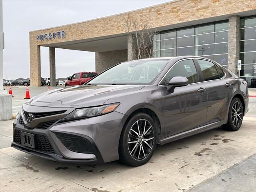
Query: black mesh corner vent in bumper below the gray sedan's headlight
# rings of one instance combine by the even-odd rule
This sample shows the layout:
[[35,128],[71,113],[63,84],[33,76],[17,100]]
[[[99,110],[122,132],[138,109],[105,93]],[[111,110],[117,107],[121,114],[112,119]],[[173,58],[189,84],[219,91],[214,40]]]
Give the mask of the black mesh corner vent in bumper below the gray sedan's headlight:
[[55,132],[55,135],[59,138],[59,140],[71,151],[77,153],[93,153],[94,149],[90,142],[82,138],[80,136]]

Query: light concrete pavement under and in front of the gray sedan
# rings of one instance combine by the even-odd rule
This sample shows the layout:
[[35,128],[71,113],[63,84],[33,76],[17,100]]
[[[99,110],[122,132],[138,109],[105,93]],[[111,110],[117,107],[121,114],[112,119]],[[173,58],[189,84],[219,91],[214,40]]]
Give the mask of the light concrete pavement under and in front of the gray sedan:
[[[1,136],[11,137],[11,124],[12,121],[1,122]],[[217,128],[165,144],[156,148],[150,162],[136,168],[118,161],[99,165],[59,163],[3,147],[0,149],[0,191],[188,191],[254,155],[255,127],[255,118],[244,117],[237,132]],[[255,170],[255,166],[251,169]],[[250,184],[255,180],[246,179]],[[224,186],[224,180],[218,184]],[[247,192],[242,181],[232,180],[239,183],[237,191]],[[255,190],[252,185],[251,191]]]

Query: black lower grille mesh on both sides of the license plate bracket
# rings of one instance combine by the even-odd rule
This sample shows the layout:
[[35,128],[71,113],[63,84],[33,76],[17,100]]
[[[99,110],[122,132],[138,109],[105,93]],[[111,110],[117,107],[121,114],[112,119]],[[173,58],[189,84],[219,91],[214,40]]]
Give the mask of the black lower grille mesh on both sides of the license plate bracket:
[[[14,130],[14,142],[21,144],[20,130]],[[54,153],[52,145],[46,136],[35,134],[35,143],[37,150],[47,153]]]

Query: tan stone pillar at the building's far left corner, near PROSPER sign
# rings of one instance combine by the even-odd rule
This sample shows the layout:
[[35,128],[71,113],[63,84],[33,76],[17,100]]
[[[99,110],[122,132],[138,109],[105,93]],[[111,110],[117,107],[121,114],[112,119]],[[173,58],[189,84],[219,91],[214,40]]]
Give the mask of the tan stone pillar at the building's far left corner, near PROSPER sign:
[[[30,38],[32,38],[30,36]],[[29,41],[29,52],[30,52],[30,85],[41,86],[41,52],[40,46]]]

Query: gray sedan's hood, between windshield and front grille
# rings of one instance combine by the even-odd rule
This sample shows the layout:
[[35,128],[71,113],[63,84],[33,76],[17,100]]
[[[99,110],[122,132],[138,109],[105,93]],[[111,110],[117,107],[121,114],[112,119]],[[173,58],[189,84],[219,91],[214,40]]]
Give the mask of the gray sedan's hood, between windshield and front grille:
[[26,102],[45,107],[83,108],[103,105],[115,96],[131,94],[144,85],[82,85],[44,92]]

